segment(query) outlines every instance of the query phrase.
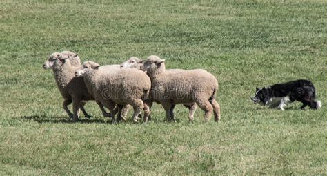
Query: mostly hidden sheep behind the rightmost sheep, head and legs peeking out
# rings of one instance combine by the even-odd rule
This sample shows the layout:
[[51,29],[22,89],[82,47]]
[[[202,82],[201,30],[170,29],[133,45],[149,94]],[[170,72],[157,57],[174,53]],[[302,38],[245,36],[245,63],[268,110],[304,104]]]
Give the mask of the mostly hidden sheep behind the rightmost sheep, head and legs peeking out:
[[[137,68],[139,70],[143,69],[143,63],[144,60],[141,60],[137,57],[130,57],[130,59],[128,59],[127,61],[121,63],[121,68]],[[172,73],[177,73],[177,72],[183,72],[185,70],[182,69],[169,69],[166,70],[166,72],[172,72]],[[160,103],[160,102],[157,102]],[[194,114],[195,114],[195,110],[197,109],[197,104],[192,103],[192,104],[183,104],[186,108],[188,108],[189,113],[188,113],[188,119],[190,121],[194,120]],[[150,110],[152,107],[152,101],[149,103],[150,106]],[[148,119],[151,119],[151,117],[149,116]]]

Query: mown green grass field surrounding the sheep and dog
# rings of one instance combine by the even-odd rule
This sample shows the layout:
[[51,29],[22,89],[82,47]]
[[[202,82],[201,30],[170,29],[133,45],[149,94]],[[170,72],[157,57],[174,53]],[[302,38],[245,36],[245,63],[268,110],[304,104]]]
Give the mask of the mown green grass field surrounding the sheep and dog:
[[[326,175],[327,1],[1,1],[0,175]],[[221,121],[110,124],[95,102],[71,123],[52,52],[121,63],[159,55],[219,81]],[[323,106],[255,106],[255,86],[310,79]],[[129,118],[130,119],[130,118]]]

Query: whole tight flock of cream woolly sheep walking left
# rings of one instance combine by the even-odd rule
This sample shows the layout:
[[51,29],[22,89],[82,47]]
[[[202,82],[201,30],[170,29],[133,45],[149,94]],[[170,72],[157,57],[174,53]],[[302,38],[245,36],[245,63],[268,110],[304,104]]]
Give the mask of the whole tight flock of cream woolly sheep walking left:
[[[154,102],[164,108],[166,121],[176,121],[176,104],[188,108],[190,121],[194,120],[197,106],[204,110],[204,121],[209,121],[212,114],[215,121],[219,121],[216,77],[202,69],[166,69],[165,62],[165,59],[151,55],[146,60],[130,57],[115,65],[100,66],[94,61],[81,64],[79,55],[63,51],[52,53],[43,68],[52,69],[63,97],[63,109],[72,121],[79,121],[80,110],[90,118],[84,109],[88,101],[95,101],[103,117],[111,117],[112,123],[127,121],[131,108],[132,121],[139,122],[143,111],[146,123],[151,119]],[[69,104],[72,104],[72,113]]]

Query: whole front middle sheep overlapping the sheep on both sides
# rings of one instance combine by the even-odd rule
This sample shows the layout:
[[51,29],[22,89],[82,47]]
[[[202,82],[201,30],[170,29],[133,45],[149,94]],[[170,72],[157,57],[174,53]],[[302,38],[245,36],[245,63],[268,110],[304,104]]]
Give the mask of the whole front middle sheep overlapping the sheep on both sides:
[[146,100],[151,88],[151,81],[145,72],[137,69],[103,69],[98,63],[86,61],[76,70],[76,77],[83,77],[89,92],[95,99],[110,110],[112,122],[115,123],[115,105],[121,107],[130,104],[134,108],[132,121],[137,122],[137,116],[144,110],[144,121],[150,115]]

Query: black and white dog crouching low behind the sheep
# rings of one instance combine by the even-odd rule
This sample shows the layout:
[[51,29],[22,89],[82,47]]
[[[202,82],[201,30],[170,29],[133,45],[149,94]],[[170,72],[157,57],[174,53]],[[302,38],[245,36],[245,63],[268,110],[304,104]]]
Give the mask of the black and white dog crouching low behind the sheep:
[[321,101],[315,101],[316,90],[313,83],[308,80],[299,79],[296,81],[289,81],[284,84],[274,84],[264,88],[256,88],[255,96],[251,97],[255,104],[261,103],[264,106],[279,106],[284,110],[284,106],[288,101],[295,100],[302,102],[301,109],[309,106],[313,109],[321,108]]

